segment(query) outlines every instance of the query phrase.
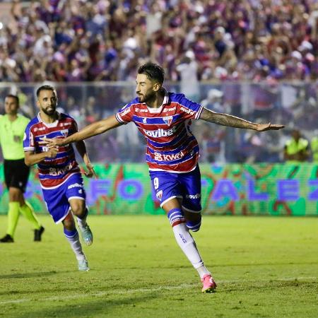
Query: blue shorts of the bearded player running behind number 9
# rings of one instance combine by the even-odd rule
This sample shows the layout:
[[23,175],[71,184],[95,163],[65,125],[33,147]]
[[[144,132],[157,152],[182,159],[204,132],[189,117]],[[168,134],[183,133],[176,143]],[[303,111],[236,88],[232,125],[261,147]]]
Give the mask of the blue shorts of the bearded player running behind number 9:
[[83,178],[76,173],[54,189],[42,189],[47,210],[55,223],[60,223],[69,213],[70,199],[86,199]]

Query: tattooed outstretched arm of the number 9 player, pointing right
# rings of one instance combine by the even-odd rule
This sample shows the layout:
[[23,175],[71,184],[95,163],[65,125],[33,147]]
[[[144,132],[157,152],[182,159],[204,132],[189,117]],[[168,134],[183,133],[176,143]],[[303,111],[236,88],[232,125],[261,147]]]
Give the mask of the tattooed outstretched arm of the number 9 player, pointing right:
[[271,124],[270,122],[267,124],[257,124],[256,122],[248,122],[245,119],[235,117],[230,114],[212,112],[211,110],[207,110],[205,107],[201,112],[200,119],[203,119],[206,122],[213,122],[214,124],[219,124],[223,126],[253,129],[257,131],[278,130],[284,127],[283,125]]

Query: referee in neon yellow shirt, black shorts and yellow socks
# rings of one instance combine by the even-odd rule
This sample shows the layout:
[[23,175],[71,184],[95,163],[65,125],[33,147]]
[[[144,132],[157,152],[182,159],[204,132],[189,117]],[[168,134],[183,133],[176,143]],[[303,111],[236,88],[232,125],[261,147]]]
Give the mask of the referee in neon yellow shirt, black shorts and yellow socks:
[[6,114],[0,115],[0,143],[4,155],[4,180],[9,196],[8,228],[6,235],[0,240],[1,243],[14,242],[20,213],[33,225],[35,241],[41,240],[45,230],[37,220],[32,206],[24,198],[30,167],[24,163],[23,135],[30,119],[18,114],[18,108],[18,96],[7,95],[4,99]]

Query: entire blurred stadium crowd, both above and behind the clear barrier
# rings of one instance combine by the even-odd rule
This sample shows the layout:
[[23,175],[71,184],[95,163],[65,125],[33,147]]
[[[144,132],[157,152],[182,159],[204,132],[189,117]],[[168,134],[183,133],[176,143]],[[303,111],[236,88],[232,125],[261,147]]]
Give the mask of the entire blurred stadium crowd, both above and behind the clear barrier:
[[[52,81],[59,110],[80,128],[105,118],[134,98],[126,81],[151,59],[164,66],[168,90],[290,128],[253,134],[195,122],[202,162],[282,162],[291,130],[318,136],[317,1],[13,1],[11,16],[16,28],[0,23],[0,78],[8,83],[0,100],[17,94],[27,117],[37,112],[31,83]],[[88,148],[94,161],[143,160],[143,139],[131,125]]]

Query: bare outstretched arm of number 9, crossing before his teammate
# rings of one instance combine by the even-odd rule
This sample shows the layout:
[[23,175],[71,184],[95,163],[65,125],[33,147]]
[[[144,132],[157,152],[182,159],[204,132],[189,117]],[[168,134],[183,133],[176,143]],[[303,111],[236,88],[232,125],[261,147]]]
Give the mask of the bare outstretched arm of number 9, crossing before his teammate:
[[43,141],[47,146],[64,146],[68,143],[73,143],[76,141],[81,141],[84,139],[88,139],[90,137],[105,133],[105,131],[108,131],[110,129],[116,128],[118,126],[121,126],[122,123],[119,123],[115,117],[115,115],[112,115],[110,117],[107,117],[106,119],[102,119],[98,122],[94,122],[93,124],[90,124],[77,133],[68,136],[64,139],[49,139],[44,138]]

